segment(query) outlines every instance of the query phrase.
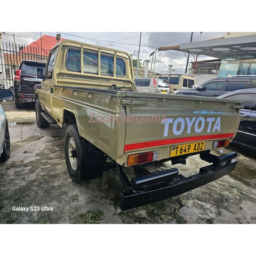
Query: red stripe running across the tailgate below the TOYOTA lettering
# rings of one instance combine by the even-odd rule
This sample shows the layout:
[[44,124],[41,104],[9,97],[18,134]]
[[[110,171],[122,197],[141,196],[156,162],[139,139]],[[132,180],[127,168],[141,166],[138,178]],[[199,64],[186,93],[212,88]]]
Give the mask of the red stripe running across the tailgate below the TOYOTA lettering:
[[214,135],[204,135],[204,136],[193,136],[193,137],[184,137],[178,139],[169,139],[169,140],[153,140],[147,142],[127,144],[124,146],[124,151],[142,149],[142,148],[151,148],[164,145],[172,145],[177,143],[189,142],[189,141],[202,141],[202,140],[213,140],[213,139],[227,139],[232,138],[234,133],[224,133],[224,134],[214,134]]

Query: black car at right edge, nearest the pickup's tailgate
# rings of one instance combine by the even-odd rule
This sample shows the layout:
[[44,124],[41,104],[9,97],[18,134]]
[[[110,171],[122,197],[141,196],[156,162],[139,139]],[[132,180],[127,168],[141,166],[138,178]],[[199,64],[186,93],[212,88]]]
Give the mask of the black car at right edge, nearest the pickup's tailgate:
[[244,101],[237,134],[231,143],[256,151],[256,89],[238,90],[217,98]]

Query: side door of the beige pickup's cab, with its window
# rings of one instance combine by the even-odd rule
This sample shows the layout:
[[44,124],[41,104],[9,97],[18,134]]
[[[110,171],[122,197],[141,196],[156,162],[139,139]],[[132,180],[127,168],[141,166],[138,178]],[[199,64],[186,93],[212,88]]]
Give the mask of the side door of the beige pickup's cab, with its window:
[[50,113],[50,94],[53,93],[52,90],[52,73],[55,64],[55,59],[57,55],[57,50],[50,53],[47,65],[45,68],[45,77],[41,82],[41,92],[40,92],[40,102],[42,103],[42,108],[44,111]]

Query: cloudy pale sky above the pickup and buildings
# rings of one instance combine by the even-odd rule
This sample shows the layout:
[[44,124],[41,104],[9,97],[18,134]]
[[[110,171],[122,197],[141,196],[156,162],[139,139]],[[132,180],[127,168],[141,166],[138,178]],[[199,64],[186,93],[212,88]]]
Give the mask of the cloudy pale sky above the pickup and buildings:
[[[56,36],[57,33],[61,34],[61,38],[74,39],[76,41],[85,42],[89,44],[107,46],[117,50],[122,50],[132,54],[133,59],[138,59],[140,32],[42,32],[42,35]],[[14,35],[14,37],[13,37]],[[203,32],[203,40],[217,38],[224,36],[224,32]],[[2,39],[3,42],[14,42],[16,44],[28,45],[33,41],[40,38],[40,32],[4,32]],[[168,65],[173,65],[172,69],[175,71],[185,71],[187,54],[179,51],[156,51],[156,48],[161,46],[177,45],[181,43],[190,42],[191,32],[141,32],[141,47],[140,59],[148,59],[149,67],[154,65],[156,69],[168,69]],[[194,32],[192,42],[201,41],[201,33]],[[149,57],[150,53],[156,51],[155,56]],[[199,60],[214,59],[199,55]],[[190,54],[189,61],[195,61],[194,55]]]

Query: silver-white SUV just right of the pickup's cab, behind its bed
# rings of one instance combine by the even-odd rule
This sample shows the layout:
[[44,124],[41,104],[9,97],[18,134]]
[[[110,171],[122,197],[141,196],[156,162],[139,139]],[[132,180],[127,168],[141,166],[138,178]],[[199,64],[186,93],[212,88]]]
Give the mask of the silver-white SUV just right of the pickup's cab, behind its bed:
[[170,85],[166,80],[157,78],[135,78],[134,82],[138,92],[170,93]]

